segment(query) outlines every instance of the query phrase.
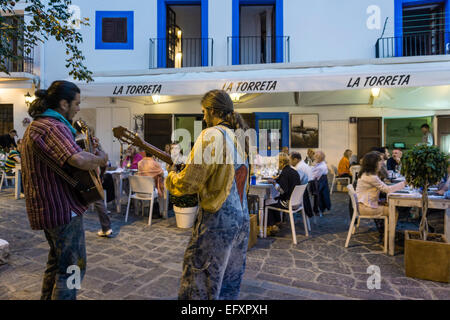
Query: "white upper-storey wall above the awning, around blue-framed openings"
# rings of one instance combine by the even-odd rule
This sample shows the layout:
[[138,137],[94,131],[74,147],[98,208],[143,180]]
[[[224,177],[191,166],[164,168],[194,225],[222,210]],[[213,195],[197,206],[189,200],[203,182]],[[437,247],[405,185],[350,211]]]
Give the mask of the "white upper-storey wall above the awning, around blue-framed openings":
[[[367,59],[375,57],[375,43],[389,16],[387,35],[393,32],[394,1],[316,0],[283,1],[284,35],[290,37],[291,62]],[[149,39],[157,37],[157,0],[74,0],[82,17],[90,19],[82,27],[86,66],[93,72],[144,70],[149,67]],[[366,13],[370,5],[380,8],[380,29],[369,30]],[[134,50],[95,50],[95,11],[134,11]],[[214,65],[227,64],[227,37],[232,35],[232,1],[209,0],[209,37],[214,40]],[[180,16],[181,17],[181,16]],[[60,43],[46,43],[45,86],[67,77],[65,50]]]

